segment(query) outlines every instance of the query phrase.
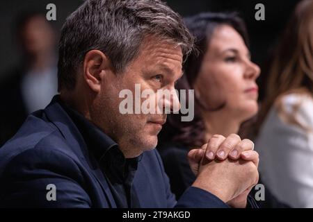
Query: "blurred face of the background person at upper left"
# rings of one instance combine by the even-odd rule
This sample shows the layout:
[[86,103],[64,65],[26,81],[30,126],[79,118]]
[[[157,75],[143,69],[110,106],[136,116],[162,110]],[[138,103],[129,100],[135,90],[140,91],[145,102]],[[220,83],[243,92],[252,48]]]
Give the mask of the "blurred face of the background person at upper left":
[[42,15],[31,17],[22,26],[19,40],[24,53],[29,56],[42,55],[54,49],[54,31]]

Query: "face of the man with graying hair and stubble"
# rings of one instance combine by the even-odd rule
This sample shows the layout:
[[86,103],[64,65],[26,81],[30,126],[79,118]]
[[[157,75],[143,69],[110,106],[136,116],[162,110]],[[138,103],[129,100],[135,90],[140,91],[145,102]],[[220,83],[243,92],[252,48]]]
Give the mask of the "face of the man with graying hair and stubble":
[[[162,110],[165,104],[172,106],[173,103],[179,103],[176,94],[170,101],[165,101],[157,96],[157,90],[174,89],[175,82],[181,76],[181,47],[157,40],[155,37],[147,37],[138,57],[128,65],[126,71],[123,74],[111,75],[109,81],[102,83],[103,90],[98,104],[103,110],[98,112],[102,119],[101,126],[105,129],[105,133],[118,142],[122,151],[127,151],[124,153],[129,153],[126,157],[140,155],[143,151],[157,146],[157,135],[166,121],[166,114],[164,112],[157,114],[157,110]],[[132,92],[133,110],[135,110],[136,100],[143,104],[147,99],[135,94],[135,84],[137,87],[140,85],[141,92],[146,89],[154,92],[148,99],[153,99],[156,112],[120,113],[120,103],[125,99],[119,98],[121,90],[129,89]]]

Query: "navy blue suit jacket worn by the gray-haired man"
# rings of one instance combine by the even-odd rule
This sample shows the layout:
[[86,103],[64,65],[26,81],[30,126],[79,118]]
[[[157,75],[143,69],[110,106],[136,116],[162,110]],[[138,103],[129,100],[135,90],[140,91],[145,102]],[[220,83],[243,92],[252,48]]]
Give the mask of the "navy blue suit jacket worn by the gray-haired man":
[[[56,200],[47,200],[49,184]],[[132,189],[141,207],[227,207],[195,187],[176,201],[156,150],[143,153]],[[0,148],[0,207],[116,207],[97,158],[56,99]]]

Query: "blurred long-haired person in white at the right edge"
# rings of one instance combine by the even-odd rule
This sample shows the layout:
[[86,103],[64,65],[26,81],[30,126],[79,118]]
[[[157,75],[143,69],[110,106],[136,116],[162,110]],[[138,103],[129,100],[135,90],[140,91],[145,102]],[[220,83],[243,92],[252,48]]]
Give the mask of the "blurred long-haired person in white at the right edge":
[[269,71],[257,124],[264,184],[292,207],[313,207],[313,1],[300,1]]

